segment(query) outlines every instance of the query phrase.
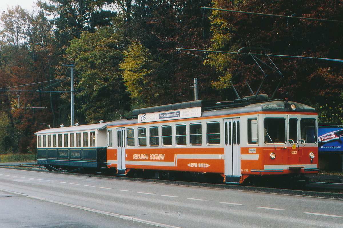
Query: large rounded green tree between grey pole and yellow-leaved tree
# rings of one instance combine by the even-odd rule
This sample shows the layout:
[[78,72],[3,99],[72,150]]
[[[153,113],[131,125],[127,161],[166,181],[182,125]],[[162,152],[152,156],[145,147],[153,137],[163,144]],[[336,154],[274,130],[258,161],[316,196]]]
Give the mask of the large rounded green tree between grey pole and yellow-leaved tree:
[[130,107],[119,69],[123,58],[121,46],[121,30],[103,27],[95,33],[84,32],[67,49],[79,71],[76,96],[88,123],[118,119],[117,114],[124,114]]

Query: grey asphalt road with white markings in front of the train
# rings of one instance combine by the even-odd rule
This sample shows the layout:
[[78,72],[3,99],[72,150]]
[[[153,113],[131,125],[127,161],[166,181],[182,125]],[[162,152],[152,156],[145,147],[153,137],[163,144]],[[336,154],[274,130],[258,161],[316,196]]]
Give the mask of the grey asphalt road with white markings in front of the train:
[[0,227],[343,227],[343,200],[0,168]]

